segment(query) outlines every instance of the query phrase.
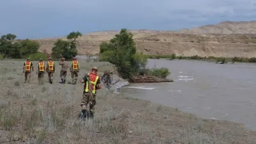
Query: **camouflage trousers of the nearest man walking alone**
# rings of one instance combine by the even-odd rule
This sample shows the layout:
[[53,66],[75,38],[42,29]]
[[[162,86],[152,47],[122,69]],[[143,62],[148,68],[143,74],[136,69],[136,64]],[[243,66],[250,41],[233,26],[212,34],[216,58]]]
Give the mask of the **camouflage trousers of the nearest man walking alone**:
[[[91,99],[91,101],[90,101]],[[90,98],[90,93],[83,93],[83,99],[81,100],[81,107],[82,107],[82,110],[83,109],[86,109],[87,110],[87,106],[90,102],[90,113],[94,114],[94,106],[96,105],[96,95],[92,95],[92,97]]]

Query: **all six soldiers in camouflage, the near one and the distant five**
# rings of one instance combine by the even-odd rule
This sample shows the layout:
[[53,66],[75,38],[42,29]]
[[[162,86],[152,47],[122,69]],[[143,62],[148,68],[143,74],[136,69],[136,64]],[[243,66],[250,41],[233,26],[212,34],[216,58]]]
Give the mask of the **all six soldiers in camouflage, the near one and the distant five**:
[[[65,58],[61,56],[59,65],[61,65],[60,70],[60,77],[61,83],[66,82],[67,77],[67,68],[68,64],[65,61]],[[25,83],[30,81],[31,78],[31,70],[34,71],[33,63],[28,58],[27,61],[24,63],[23,73],[25,73]],[[52,58],[48,58],[47,65],[45,67],[45,63],[40,58],[38,62],[38,66],[36,68],[36,74],[38,74],[38,81],[40,82],[44,78],[44,74],[47,72],[49,77],[49,83],[52,84],[52,77],[55,72],[55,64],[52,61]],[[72,77],[72,84],[76,84],[78,73],[79,73],[79,64],[76,57],[72,60],[72,65],[70,67],[71,77]],[[94,115],[94,106],[96,104],[96,93],[97,90],[102,88],[100,84],[100,77],[97,75],[97,67],[93,67],[92,71],[86,74],[83,79],[81,79],[81,83],[84,83],[84,90],[83,90],[83,99],[81,100],[81,108],[82,113],[89,112],[89,117],[93,118]],[[90,106],[88,108],[88,104]]]

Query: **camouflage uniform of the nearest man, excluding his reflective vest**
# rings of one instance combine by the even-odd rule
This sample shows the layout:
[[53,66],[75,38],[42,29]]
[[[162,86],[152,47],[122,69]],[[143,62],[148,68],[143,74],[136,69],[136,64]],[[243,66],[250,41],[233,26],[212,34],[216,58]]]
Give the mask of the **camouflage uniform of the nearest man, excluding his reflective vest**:
[[[97,70],[97,69],[96,69]],[[87,106],[88,106],[88,104],[89,104],[89,102],[90,102],[90,95],[91,95],[91,93],[90,92],[85,92],[85,88],[86,88],[86,81],[88,81],[88,76],[84,76],[83,77],[83,80],[84,80],[84,91],[83,91],[83,99],[81,100],[81,107],[82,107],[82,111],[84,110],[84,109],[87,109]],[[95,92],[95,94],[92,94],[92,101],[91,101],[91,104],[90,104],[90,108],[89,108],[89,110],[90,110],[90,115],[94,115],[94,106],[96,105],[96,93],[97,93],[97,89],[99,89],[99,87],[98,87],[98,84],[100,84],[100,77],[99,77],[99,79],[98,79],[98,81],[97,81],[97,85],[96,85],[96,92]]]

